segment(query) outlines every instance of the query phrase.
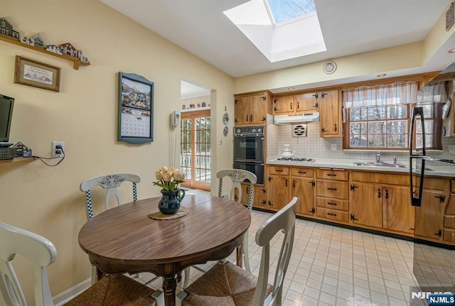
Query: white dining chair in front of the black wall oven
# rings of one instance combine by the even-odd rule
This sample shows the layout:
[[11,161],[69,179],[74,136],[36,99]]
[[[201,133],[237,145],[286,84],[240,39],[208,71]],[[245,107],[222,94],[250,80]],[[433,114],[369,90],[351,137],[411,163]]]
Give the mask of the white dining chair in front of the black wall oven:
[[[232,187],[228,192],[228,197],[230,200],[240,203],[242,200],[242,182],[248,180],[250,182],[250,187],[248,187],[248,201],[247,201],[247,209],[252,211],[253,207],[253,197],[254,197],[254,185],[257,182],[257,177],[254,173],[251,173],[247,170],[241,169],[226,169],[220,170],[216,173],[216,177],[219,180],[218,183],[218,197],[222,197],[223,195],[223,178],[228,177],[230,182],[232,183]],[[235,197],[235,191],[237,190],[237,197]],[[250,256],[248,255],[248,233],[245,233],[245,238],[243,239],[243,262],[245,263],[245,269],[248,272],[251,272],[250,269]],[[196,270],[205,273],[205,270],[199,268],[198,266],[192,266],[191,268],[195,268]],[[185,278],[183,280],[183,288],[188,287],[188,283],[190,281],[190,268],[185,269]]]

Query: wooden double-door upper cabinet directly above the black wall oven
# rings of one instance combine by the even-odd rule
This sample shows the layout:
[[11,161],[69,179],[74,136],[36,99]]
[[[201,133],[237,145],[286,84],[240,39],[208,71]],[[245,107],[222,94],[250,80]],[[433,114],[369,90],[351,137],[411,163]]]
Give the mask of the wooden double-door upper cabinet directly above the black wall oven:
[[271,102],[268,92],[262,94],[235,96],[235,122],[238,125],[265,125],[267,124],[267,103]]

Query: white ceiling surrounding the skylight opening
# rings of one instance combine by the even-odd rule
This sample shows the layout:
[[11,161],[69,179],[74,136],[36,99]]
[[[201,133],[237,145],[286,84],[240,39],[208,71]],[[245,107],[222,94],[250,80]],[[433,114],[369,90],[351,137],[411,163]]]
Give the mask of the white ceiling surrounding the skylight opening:
[[[223,13],[248,0],[100,1],[241,77],[423,40],[451,0],[314,0],[327,51],[273,63]],[[438,60],[432,65],[424,69],[445,67]]]

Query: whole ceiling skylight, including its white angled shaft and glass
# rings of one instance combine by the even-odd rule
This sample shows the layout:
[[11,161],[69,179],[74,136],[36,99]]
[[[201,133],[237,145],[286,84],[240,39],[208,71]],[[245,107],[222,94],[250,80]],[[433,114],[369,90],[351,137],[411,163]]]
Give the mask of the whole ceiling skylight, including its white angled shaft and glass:
[[313,0],[250,0],[224,13],[270,62],[326,51]]

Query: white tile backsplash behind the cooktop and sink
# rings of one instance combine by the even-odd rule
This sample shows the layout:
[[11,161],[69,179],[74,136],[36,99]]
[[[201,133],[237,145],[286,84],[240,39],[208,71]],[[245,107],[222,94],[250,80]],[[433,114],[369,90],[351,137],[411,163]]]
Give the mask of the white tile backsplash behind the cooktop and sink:
[[[336,158],[336,159],[356,159],[356,160],[375,160],[376,153],[381,152],[382,160],[393,160],[396,156],[400,162],[409,161],[408,152],[372,151],[372,152],[353,152],[343,151],[343,138],[322,138],[319,136],[320,124],[313,122],[306,124],[306,137],[296,137],[292,133],[293,125],[274,125],[273,116],[267,116],[267,156],[269,158],[279,157],[281,148],[284,144],[290,144],[294,148],[295,158]],[[336,151],[332,151],[332,144],[336,146]],[[455,145],[455,137],[443,137],[442,146],[444,152],[432,151],[431,155],[438,158],[455,159],[455,154],[449,153],[449,146]]]

